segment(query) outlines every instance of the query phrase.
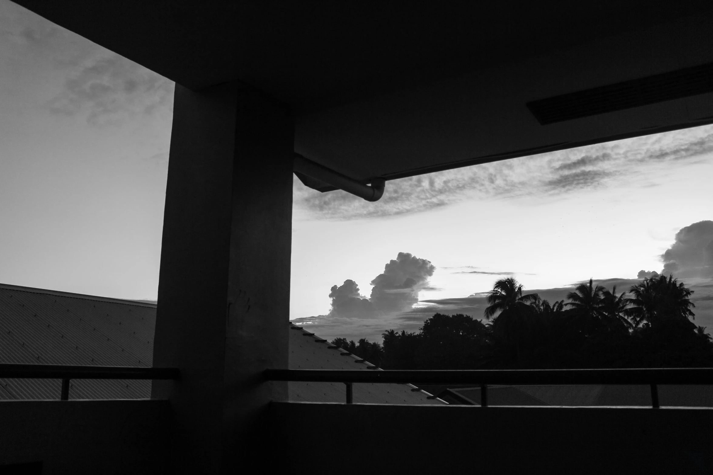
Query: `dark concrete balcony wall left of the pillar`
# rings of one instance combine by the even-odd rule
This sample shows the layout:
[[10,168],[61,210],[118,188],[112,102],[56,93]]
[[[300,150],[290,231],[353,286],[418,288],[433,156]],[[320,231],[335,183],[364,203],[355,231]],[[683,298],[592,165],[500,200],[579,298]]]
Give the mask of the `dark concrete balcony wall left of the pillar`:
[[51,474],[164,473],[168,402],[0,402],[2,466],[42,461]]

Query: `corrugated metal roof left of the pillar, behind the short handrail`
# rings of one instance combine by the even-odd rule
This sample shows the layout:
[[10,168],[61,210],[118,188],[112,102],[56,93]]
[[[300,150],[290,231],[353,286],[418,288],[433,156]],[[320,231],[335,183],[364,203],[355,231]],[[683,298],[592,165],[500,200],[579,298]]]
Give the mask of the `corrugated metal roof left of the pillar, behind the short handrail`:
[[[150,367],[152,303],[0,284],[0,362]],[[72,380],[70,399],[150,397],[150,381]],[[60,380],[0,379],[0,399],[58,399]]]

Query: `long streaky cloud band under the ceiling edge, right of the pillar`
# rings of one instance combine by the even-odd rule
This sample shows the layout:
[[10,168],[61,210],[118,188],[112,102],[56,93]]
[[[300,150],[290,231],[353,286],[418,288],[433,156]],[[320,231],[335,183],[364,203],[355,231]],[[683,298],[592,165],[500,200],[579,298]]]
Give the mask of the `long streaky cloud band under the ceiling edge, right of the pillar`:
[[655,186],[650,172],[662,164],[712,154],[713,125],[705,125],[391,180],[375,203],[342,191],[319,193],[295,178],[294,204],[317,219],[361,219],[424,212],[466,199],[558,196],[623,180]]

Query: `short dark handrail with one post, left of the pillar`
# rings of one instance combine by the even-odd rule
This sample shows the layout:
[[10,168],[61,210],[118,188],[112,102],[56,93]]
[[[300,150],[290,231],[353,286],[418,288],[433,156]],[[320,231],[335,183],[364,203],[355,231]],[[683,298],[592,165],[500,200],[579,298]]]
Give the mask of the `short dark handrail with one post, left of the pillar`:
[[0,364],[0,377],[62,380],[60,400],[69,400],[70,380],[178,380],[175,367]]

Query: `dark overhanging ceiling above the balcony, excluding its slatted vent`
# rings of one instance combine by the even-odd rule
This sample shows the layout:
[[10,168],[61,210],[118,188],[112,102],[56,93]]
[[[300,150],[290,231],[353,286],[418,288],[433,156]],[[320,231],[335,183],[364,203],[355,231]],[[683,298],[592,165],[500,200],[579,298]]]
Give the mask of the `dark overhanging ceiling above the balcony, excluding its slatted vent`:
[[188,88],[275,96],[296,152],[365,182],[713,121],[713,93],[548,125],[526,106],[713,62],[707,1],[16,3]]

